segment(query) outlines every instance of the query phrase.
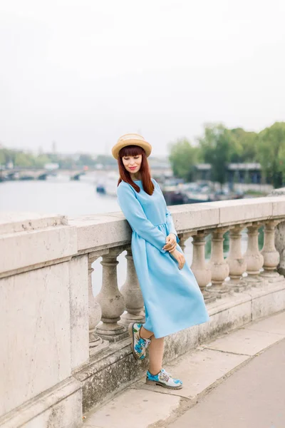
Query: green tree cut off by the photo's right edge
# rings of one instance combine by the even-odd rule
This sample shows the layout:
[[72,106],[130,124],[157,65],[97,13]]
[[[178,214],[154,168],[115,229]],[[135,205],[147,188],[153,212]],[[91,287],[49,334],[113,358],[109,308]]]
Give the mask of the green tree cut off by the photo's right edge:
[[285,122],[275,122],[259,133],[259,162],[274,188],[281,187],[285,174]]

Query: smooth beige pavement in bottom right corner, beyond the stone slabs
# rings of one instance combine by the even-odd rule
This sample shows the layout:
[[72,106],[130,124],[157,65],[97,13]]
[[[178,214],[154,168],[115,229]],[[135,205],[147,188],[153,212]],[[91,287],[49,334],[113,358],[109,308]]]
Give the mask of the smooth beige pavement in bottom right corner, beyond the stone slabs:
[[285,340],[237,370],[171,428],[284,428]]

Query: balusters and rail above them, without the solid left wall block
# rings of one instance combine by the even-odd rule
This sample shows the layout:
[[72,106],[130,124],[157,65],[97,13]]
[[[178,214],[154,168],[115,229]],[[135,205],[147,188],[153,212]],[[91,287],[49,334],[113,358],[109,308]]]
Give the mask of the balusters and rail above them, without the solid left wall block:
[[[275,248],[274,236],[276,226],[285,220],[285,198],[178,205],[172,207],[172,217],[183,250],[185,241],[192,237],[191,268],[205,302],[213,302],[216,298],[265,282],[284,280],[276,270],[280,255]],[[89,216],[69,222],[78,229],[78,241],[82,243],[78,253],[88,253],[91,353],[102,344],[100,339],[109,342],[121,340],[126,337],[124,325],[144,319],[142,295],[130,250],[130,228],[125,221],[121,224],[122,218],[120,213],[112,213],[104,215],[96,223],[95,218]],[[259,251],[261,227],[264,227],[264,247]],[[229,255],[224,259],[224,233],[228,230]],[[242,255],[243,230],[247,231],[248,239],[247,250]],[[211,236],[212,243],[209,263],[206,263],[204,255],[207,235]],[[87,245],[90,248],[86,248]],[[127,278],[119,290],[117,258],[125,250]],[[102,258],[103,281],[100,293],[93,297],[91,272],[92,263],[97,258]]]

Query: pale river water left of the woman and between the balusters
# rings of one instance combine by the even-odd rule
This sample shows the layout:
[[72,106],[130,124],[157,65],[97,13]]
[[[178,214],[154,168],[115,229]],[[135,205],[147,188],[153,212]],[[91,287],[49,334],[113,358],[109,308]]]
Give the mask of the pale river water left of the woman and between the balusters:
[[[0,215],[1,212],[36,212],[43,214],[61,214],[68,217],[111,213],[120,211],[116,197],[96,193],[95,182],[98,177],[86,176],[81,180],[71,181],[68,177],[49,178],[48,180],[7,181],[0,183]],[[261,247],[263,235],[260,235]],[[192,263],[192,238],[187,240],[185,257]],[[242,250],[247,248],[247,235],[242,235]],[[206,258],[209,259],[211,243],[209,237],[206,243]],[[224,256],[229,250],[228,233],[224,239]],[[126,252],[118,257],[118,285],[125,282]],[[93,290],[97,294],[102,281],[100,259],[93,263]]]

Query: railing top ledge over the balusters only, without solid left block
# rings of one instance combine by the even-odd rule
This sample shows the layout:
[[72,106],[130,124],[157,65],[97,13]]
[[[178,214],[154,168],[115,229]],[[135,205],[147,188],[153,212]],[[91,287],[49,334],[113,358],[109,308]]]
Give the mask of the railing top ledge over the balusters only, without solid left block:
[[[170,207],[178,233],[285,217],[285,196],[224,200]],[[78,229],[78,251],[88,253],[130,243],[123,213],[84,215],[69,224]]]

